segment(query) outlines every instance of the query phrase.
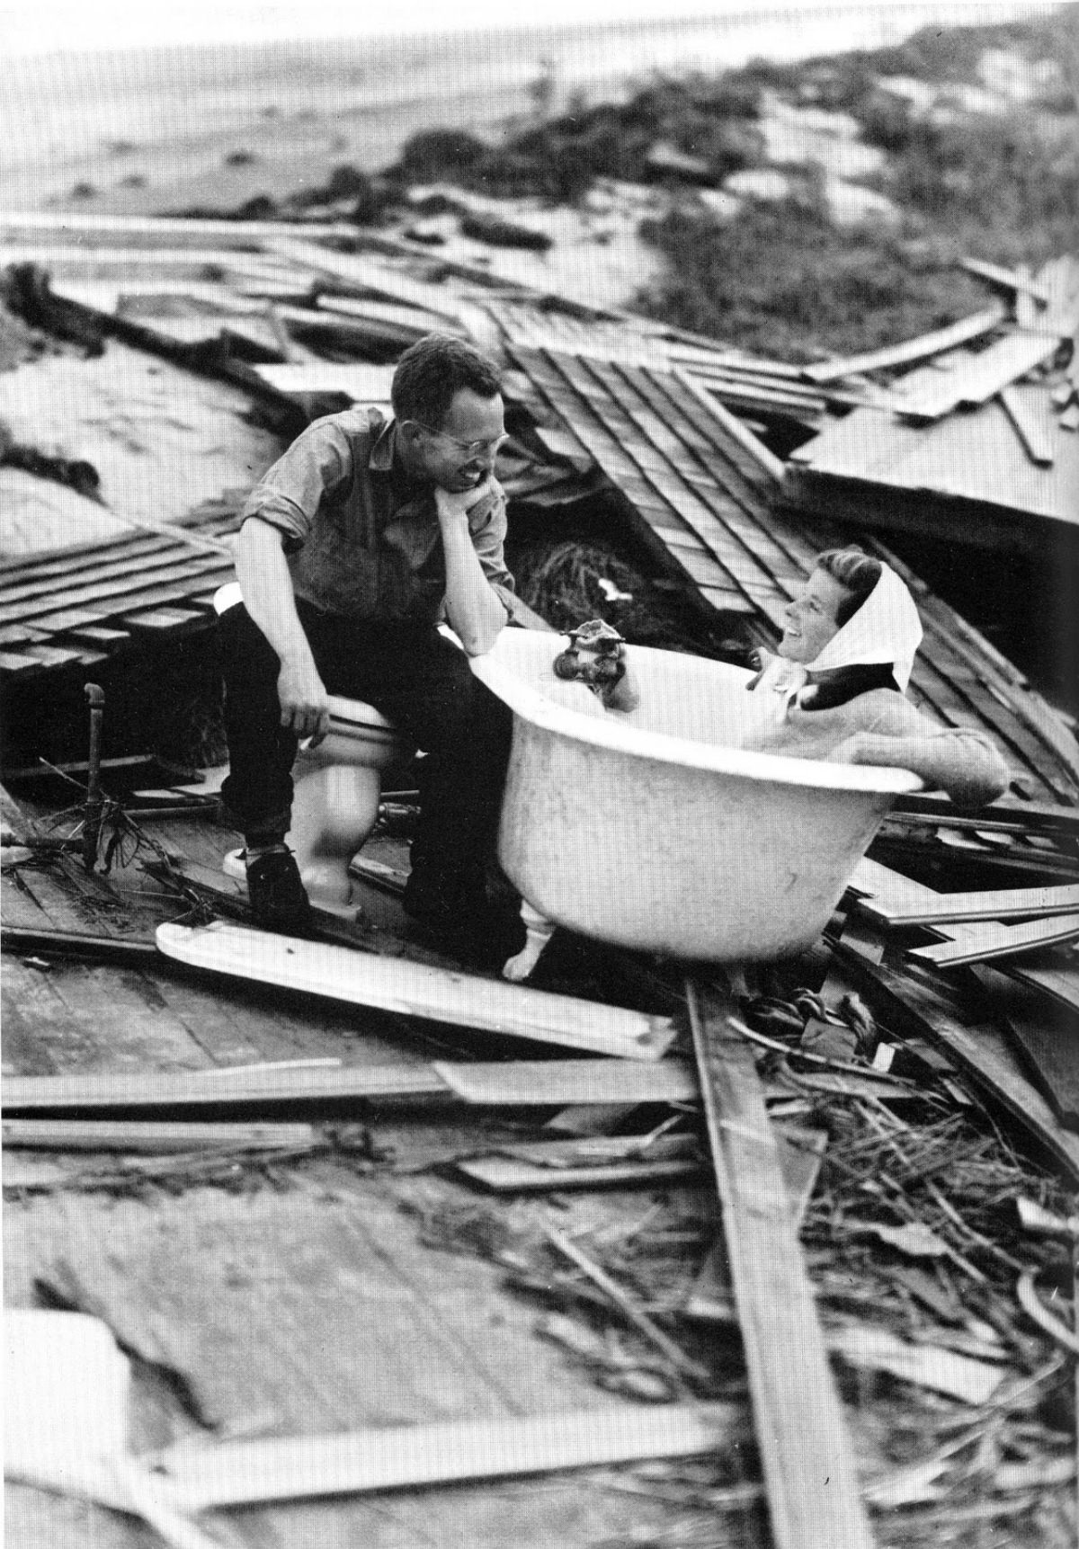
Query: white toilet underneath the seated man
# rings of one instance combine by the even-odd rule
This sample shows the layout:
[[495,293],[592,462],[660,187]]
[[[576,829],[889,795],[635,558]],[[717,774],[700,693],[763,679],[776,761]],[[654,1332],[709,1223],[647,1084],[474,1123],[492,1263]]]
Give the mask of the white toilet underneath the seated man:
[[[217,613],[240,603],[236,582],[214,595]],[[313,905],[352,915],[349,863],[375,826],[381,771],[412,751],[384,716],[358,699],[330,696],[330,730],[316,748],[301,744],[293,768],[293,823],[287,843]],[[243,877],[243,852],[225,858]]]

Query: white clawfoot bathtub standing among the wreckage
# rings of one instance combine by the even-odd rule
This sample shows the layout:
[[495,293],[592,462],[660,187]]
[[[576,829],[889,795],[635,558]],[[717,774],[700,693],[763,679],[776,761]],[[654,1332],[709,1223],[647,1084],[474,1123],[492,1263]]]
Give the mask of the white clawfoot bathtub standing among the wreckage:
[[563,683],[558,635],[505,629],[471,668],[513,711],[499,861],[526,908],[529,976],[555,925],[620,946],[752,962],[809,946],[907,770],[738,750],[741,668],[628,646],[639,708]]

